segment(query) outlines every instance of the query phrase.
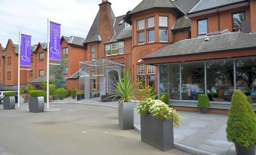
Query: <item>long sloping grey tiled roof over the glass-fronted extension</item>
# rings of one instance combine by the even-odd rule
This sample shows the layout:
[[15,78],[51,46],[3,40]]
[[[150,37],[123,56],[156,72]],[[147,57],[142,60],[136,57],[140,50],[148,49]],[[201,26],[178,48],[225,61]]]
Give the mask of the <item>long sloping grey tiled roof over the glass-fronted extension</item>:
[[239,50],[256,47],[255,42],[256,33],[224,32],[224,34],[221,35],[211,35],[204,38],[192,38],[178,41],[155,53],[145,56],[143,59],[221,52],[224,50]]

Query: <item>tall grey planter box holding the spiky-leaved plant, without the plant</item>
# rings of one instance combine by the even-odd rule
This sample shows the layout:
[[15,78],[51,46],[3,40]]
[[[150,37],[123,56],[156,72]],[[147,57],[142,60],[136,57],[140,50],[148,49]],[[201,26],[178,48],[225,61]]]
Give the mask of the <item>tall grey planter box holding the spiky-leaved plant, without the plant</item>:
[[119,126],[121,129],[134,129],[134,102],[119,103]]

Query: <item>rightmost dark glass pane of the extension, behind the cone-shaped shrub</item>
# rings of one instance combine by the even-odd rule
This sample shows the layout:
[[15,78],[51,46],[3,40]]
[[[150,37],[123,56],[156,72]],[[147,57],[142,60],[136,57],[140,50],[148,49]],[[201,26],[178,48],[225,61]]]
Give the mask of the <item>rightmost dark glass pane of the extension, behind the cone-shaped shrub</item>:
[[236,89],[256,103],[256,57],[236,59]]

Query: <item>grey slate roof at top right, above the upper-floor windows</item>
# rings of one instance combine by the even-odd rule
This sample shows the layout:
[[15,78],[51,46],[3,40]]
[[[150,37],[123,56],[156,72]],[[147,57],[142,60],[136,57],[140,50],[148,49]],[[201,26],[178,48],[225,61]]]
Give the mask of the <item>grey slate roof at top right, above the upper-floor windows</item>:
[[190,12],[193,14],[199,11],[205,11],[225,5],[232,5],[239,2],[248,2],[248,0],[201,0]]

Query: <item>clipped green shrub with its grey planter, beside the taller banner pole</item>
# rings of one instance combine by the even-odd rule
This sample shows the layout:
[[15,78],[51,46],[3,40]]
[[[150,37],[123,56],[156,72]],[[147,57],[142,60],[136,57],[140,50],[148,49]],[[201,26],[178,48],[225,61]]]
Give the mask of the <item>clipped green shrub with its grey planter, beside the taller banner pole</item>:
[[42,90],[32,90],[29,92],[29,112],[39,113],[44,112],[45,99]]

